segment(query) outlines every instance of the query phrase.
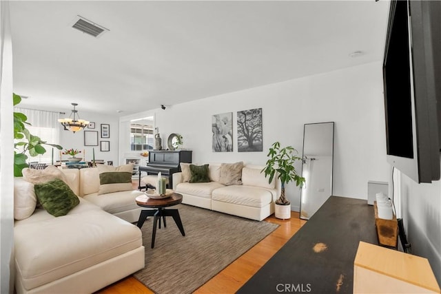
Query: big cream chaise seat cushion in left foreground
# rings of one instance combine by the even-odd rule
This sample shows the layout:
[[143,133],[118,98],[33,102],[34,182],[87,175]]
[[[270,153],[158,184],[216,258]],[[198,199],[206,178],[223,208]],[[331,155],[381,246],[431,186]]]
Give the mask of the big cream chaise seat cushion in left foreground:
[[80,202],[67,216],[54,218],[37,209],[30,218],[14,223],[16,269],[24,288],[61,279],[142,246],[136,226],[87,200]]

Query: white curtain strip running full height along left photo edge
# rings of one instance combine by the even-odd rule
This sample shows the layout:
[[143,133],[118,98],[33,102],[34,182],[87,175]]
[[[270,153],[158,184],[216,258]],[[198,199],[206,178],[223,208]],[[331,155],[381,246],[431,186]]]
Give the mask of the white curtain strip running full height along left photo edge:
[[14,291],[14,133],[9,1],[0,1],[0,293]]

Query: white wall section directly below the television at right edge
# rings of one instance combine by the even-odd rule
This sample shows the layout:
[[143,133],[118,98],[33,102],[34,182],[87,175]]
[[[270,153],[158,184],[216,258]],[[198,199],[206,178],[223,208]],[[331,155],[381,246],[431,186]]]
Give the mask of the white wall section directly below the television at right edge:
[[427,258],[441,285],[441,182],[418,184],[395,170],[397,198],[412,253]]

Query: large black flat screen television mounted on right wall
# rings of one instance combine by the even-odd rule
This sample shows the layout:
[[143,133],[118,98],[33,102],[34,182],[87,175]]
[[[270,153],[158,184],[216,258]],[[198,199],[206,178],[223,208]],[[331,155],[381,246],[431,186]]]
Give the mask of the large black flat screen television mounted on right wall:
[[387,161],[416,182],[439,180],[441,1],[391,1],[383,83]]

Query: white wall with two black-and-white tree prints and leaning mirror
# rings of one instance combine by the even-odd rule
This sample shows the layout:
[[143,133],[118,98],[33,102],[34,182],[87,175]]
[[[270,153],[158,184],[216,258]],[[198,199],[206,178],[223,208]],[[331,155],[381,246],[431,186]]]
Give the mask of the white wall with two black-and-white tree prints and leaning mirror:
[[[302,151],[303,125],[334,121],[334,195],[367,199],[369,180],[389,179],[384,136],[381,63],[307,76],[249,90],[157,109],[163,146],[172,133],[183,136],[193,162],[264,165],[275,141]],[[237,152],[237,112],[262,107],[263,152]],[[234,152],[212,151],[212,115],[233,112]],[[140,115],[141,116],[141,115]],[[301,170],[300,162],[296,166]],[[291,208],[298,211],[300,190],[287,186]]]

